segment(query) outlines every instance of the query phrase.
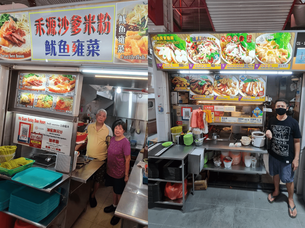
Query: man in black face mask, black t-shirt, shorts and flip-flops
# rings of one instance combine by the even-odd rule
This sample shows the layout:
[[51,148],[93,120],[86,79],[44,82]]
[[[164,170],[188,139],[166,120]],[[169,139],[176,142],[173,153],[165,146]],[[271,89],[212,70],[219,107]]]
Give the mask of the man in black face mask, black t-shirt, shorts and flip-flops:
[[288,101],[275,101],[277,116],[269,120],[266,136],[271,140],[269,152],[269,173],[273,176],[274,192],[268,195],[268,201],[273,203],[280,194],[280,180],[286,184],[288,192],[288,214],[296,217],[296,206],[293,202],[294,171],[299,166],[300,128],[299,123],[286,115]]

